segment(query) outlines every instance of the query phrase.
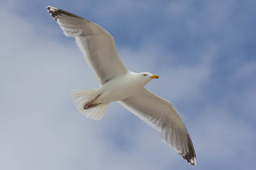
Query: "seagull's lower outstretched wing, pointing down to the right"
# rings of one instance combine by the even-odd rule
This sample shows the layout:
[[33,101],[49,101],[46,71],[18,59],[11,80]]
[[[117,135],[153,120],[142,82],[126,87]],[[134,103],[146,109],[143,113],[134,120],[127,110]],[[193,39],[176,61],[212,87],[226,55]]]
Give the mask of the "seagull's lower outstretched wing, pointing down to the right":
[[188,130],[170,102],[143,88],[136,95],[119,103],[148,125],[161,131],[164,143],[175,148],[189,164],[196,164],[196,154]]

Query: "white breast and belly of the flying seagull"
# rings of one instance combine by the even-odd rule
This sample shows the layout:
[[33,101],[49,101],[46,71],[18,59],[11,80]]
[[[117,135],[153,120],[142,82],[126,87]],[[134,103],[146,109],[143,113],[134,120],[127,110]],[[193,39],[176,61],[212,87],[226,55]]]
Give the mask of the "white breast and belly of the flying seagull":
[[143,84],[136,79],[135,75],[128,73],[122,77],[115,77],[100,87],[100,97],[96,102],[104,104],[124,100],[134,95],[140,88],[143,88]]

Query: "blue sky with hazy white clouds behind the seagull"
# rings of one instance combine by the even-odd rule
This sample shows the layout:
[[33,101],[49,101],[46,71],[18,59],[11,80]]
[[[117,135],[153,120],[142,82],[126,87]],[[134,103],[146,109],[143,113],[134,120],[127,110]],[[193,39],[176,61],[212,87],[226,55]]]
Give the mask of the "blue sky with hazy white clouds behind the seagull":
[[[0,169],[254,169],[256,1],[0,2]],[[72,89],[99,86],[51,5],[104,27],[147,88],[179,111],[192,167],[117,102],[100,121],[80,114]]]

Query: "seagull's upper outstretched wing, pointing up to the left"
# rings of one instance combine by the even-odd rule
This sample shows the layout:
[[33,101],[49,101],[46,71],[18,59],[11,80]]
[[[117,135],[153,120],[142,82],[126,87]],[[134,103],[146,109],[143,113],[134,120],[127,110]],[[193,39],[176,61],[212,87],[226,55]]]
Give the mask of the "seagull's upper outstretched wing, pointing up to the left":
[[79,49],[101,85],[128,72],[108,31],[73,13],[52,6],[47,6],[47,10],[66,36],[76,38]]

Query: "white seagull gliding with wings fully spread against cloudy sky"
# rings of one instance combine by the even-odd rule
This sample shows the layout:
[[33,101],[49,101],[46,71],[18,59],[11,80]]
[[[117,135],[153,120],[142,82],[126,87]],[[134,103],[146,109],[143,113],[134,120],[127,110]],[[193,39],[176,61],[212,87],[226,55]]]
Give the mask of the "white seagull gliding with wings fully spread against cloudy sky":
[[87,118],[101,120],[108,105],[117,101],[161,132],[164,143],[195,166],[194,146],[178,111],[170,102],[144,88],[159,75],[129,71],[118,56],[113,36],[98,24],[52,6],[47,6],[47,11],[64,35],[76,39],[86,63],[99,81],[99,88],[72,91],[77,110]]

